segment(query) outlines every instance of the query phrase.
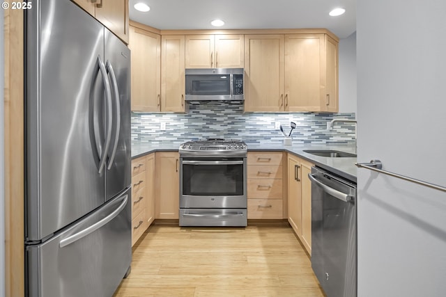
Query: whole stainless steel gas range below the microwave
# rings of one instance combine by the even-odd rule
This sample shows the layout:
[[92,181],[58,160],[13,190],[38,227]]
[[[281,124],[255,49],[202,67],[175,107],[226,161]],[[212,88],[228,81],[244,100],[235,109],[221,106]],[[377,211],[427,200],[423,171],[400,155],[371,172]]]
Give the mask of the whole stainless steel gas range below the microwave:
[[246,226],[246,143],[209,138],[179,152],[180,226]]

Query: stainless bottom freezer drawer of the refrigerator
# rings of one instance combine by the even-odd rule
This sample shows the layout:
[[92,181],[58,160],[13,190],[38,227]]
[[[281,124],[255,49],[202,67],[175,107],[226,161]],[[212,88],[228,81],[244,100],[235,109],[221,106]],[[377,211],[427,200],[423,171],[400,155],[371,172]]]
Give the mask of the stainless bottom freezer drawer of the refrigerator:
[[113,296],[132,257],[130,193],[49,241],[27,247],[26,296]]

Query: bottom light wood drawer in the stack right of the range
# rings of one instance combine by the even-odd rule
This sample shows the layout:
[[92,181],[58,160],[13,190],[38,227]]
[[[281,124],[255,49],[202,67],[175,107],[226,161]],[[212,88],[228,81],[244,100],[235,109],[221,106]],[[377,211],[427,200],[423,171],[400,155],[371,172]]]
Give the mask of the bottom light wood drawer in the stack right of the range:
[[248,218],[282,219],[282,199],[248,199]]

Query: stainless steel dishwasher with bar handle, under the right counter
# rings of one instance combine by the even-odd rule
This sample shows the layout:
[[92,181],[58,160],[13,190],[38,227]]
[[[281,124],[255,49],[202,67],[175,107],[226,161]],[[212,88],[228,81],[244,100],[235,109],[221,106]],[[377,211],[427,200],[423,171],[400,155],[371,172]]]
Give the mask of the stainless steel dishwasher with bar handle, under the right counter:
[[357,296],[356,184],[313,167],[312,268],[329,297]]

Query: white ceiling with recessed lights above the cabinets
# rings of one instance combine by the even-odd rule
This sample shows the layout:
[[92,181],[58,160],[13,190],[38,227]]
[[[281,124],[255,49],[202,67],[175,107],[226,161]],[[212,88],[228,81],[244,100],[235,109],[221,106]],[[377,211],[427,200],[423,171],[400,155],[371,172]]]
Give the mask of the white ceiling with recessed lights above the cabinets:
[[[160,30],[326,28],[339,38],[356,30],[356,0],[130,0],[130,19]],[[150,6],[148,13],[134,3]],[[330,17],[333,8],[346,13]],[[213,19],[226,24],[216,28]]]

